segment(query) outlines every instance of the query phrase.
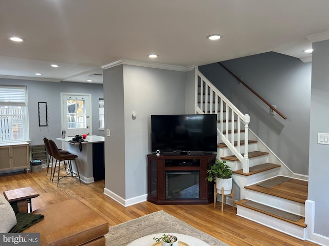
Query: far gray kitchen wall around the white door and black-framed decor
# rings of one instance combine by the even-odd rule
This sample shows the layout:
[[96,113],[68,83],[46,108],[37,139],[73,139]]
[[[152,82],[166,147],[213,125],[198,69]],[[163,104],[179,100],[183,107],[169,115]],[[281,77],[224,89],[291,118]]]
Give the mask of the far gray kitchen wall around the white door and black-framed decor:
[[[1,85],[27,86],[29,134],[31,145],[43,145],[42,136],[56,139],[61,136],[61,92],[92,94],[93,135],[104,136],[98,130],[98,98],[103,98],[103,85],[71,82],[47,82],[0,78]],[[48,127],[39,127],[38,102],[47,102]],[[59,145],[60,142],[57,142]]]

